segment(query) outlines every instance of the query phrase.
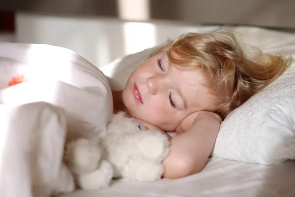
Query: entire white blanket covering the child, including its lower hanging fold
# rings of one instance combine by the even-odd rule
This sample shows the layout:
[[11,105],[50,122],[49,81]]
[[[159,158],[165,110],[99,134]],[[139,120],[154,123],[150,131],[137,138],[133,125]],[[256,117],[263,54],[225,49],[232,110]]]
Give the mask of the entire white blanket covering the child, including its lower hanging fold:
[[[28,82],[9,87],[15,77]],[[104,135],[113,114],[104,74],[60,47],[0,43],[0,197],[73,190],[65,140]]]

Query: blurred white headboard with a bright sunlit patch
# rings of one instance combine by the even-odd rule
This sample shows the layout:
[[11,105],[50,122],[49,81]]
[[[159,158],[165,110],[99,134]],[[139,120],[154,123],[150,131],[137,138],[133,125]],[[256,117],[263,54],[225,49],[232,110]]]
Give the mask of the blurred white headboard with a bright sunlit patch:
[[181,33],[212,28],[164,21],[139,23],[110,18],[16,15],[17,42],[65,47],[98,67],[126,54],[162,44]]

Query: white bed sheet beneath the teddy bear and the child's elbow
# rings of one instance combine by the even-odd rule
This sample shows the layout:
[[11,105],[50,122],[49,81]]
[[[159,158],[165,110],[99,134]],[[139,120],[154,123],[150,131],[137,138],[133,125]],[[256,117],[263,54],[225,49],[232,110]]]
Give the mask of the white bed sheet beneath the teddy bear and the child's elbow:
[[157,182],[116,181],[102,190],[62,197],[295,197],[295,161],[278,165],[212,159],[199,173]]

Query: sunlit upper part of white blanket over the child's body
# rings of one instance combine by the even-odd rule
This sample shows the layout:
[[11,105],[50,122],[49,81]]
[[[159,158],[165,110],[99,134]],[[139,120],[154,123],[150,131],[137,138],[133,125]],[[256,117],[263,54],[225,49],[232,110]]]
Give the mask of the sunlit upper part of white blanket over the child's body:
[[1,88],[15,74],[29,79],[0,90],[0,103],[45,101],[65,110],[68,139],[104,135],[113,101],[109,83],[98,68],[68,49],[50,45],[0,42],[0,57]]

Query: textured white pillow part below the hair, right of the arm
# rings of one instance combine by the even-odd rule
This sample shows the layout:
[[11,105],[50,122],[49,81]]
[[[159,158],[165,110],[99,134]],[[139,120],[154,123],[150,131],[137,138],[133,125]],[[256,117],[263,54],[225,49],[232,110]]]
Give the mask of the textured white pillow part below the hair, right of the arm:
[[295,159],[295,66],[222,123],[214,157],[258,164]]

